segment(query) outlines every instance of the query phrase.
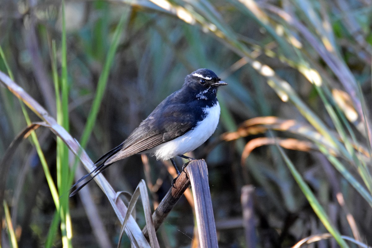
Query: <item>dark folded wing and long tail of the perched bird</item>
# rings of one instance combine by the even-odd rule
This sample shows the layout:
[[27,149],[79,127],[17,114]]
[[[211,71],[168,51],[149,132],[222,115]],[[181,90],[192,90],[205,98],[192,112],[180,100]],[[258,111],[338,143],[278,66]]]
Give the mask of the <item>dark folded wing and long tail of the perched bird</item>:
[[196,103],[170,104],[172,96],[174,93],[161,102],[122,144],[100,157],[94,163],[96,168],[78,180],[71,189],[89,175],[92,177],[74,190],[70,196],[76,194],[113,162],[171,141],[195,127],[198,120],[205,115],[203,110],[195,106]]

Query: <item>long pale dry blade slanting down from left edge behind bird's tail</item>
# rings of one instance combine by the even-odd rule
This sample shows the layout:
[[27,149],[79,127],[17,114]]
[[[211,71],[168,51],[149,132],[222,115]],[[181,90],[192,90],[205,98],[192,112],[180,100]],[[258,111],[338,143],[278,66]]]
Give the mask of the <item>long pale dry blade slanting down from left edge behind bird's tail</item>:
[[[55,119],[52,118],[49,113],[38,102],[36,102],[35,99],[33,99],[28,93],[26,93],[21,87],[19,87],[1,71],[0,82],[3,83],[4,86],[6,86],[17,98],[22,100],[22,102],[24,102],[36,115],[38,115],[46,123],[46,126],[48,126],[49,129],[55,133],[55,135],[58,135],[75,155],[81,154],[80,161],[87,171],[90,172],[94,169],[92,167],[92,160],[90,160],[84,151],[80,152],[81,147],[78,142],[70,135],[70,133],[58,125]],[[119,220],[123,222],[127,207],[122,200],[118,199],[115,201],[116,193],[103,175],[98,175],[95,179],[99,187],[108,197],[116,216],[118,216]],[[140,247],[149,247],[149,244],[142,234],[141,229],[138,227],[133,218],[129,218],[125,231],[132,244],[137,243],[140,245]]]

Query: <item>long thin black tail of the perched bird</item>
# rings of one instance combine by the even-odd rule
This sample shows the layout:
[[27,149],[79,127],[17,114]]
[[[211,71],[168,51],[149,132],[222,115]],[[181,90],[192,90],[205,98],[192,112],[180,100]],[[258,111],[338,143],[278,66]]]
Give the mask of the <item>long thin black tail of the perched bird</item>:
[[86,174],[84,175],[84,177],[80,178],[73,186],[71,186],[71,189],[72,190],[75,186],[77,186],[78,183],[80,183],[81,181],[83,181],[85,178],[89,177],[89,176],[92,176],[91,178],[89,178],[88,181],[86,181],[85,183],[81,184],[79,187],[77,187],[76,190],[74,190],[71,194],[70,194],[70,197],[71,196],[74,196],[79,190],[81,190],[84,186],[87,185],[87,183],[89,183],[90,181],[92,181],[92,179],[94,177],[96,177],[96,175],[98,175],[99,173],[101,173],[102,171],[104,171],[107,167],[109,167],[111,164],[105,164],[105,162],[110,158],[112,157],[114,154],[116,154],[118,151],[120,151],[121,149],[123,148],[123,143],[116,146],[114,149],[112,149],[111,151],[109,151],[108,153],[106,153],[105,155],[103,155],[102,157],[100,157],[95,163],[94,163],[94,166],[96,167],[91,173],[89,174]]

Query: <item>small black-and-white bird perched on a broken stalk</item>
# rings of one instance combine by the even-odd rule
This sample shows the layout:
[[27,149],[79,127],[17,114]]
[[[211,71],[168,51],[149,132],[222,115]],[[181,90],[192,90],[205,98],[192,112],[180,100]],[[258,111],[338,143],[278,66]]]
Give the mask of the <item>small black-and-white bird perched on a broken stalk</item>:
[[[94,163],[94,170],[80,178],[78,183],[91,176],[89,180],[77,187],[71,194],[74,196],[96,175],[108,168],[113,162],[122,160],[134,154],[153,154],[157,160],[174,162],[179,156],[192,161],[193,158],[183,154],[193,151],[202,145],[217,128],[221,112],[217,90],[219,86],[227,85],[221,78],[208,69],[193,71],[185,78],[180,90],[164,99],[150,115],[143,120],[138,128],[122,142]],[[188,163],[184,164],[182,170]]]

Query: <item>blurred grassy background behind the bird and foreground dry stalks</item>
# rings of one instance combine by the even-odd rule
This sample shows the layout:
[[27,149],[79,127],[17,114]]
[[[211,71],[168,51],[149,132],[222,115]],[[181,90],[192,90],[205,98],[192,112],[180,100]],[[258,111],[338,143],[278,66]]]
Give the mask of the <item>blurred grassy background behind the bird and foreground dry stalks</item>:
[[[218,129],[191,156],[208,164],[220,247],[291,247],[314,236],[309,247],[359,247],[372,243],[371,10],[371,0],[80,0],[64,11],[60,1],[2,0],[0,70],[96,160],[187,74],[209,68],[228,86]],[[0,93],[2,159],[28,125],[25,112],[40,119]],[[120,222],[105,195],[90,183],[91,204],[63,197],[74,156],[48,129],[36,134],[45,164],[32,138],[5,161],[1,247],[115,247]],[[142,164],[132,156],[105,176],[133,192],[147,171],[156,205],[172,176],[152,157],[150,172]],[[242,206],[246,185],[253,204]],[[142,227],[141,207],[136,218]],[[157,232],[161,247],[195,247],[194,225],[182,198]]]

